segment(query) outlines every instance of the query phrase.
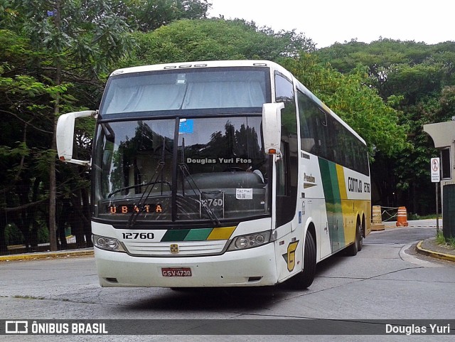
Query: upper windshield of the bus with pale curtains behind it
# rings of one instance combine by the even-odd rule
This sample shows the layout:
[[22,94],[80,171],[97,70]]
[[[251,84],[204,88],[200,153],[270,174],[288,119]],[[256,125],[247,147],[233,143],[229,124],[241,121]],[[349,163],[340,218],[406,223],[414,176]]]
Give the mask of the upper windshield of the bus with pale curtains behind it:
[[100,114],[258,108],[267,102],[266,68],[198,68],[114,75]]

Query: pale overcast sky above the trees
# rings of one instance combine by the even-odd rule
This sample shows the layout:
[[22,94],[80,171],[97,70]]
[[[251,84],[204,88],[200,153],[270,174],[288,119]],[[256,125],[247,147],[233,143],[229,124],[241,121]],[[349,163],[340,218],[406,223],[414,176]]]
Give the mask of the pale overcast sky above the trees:
[[208,0],[209,17],[242,18],[274,31],[304,33],[316,48],[380,37],[455,41],[454,0]]

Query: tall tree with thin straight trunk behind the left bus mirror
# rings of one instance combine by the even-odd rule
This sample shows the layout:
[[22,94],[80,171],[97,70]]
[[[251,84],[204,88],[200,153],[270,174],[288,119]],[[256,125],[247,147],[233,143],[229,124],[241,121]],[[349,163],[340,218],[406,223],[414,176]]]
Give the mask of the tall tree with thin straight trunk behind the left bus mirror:
[[[33,73],[53,86],[50,95],[51,139],[49,156],[49,231],[50,248],[56,250],[55,237],[55,126],[63,108],[72,107],[65,97],[68,75],[82,68],[95,73],[107,70],[131,47],[127,24],[111,11],[109,1],[16,0],[4,1],[1,23],[29,39],[31,48],[40,53],[34,60]],[[14,17],[15,20],[11,20]],[[82,73],[80,73],[81,75]],[[17,110],[18,108],[16,108]],[[80,202],[79,202],[80,203]]]

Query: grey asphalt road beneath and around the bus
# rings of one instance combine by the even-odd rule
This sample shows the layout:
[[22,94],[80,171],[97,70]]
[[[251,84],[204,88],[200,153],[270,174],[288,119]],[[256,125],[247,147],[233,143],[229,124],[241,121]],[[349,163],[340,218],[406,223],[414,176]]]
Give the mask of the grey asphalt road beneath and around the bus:
[[[1,319],[454,319],[455,264],[415,255],[430,224],[373,232],[355,257],[319,264],[305,291],[101,288],[93,257],[0,263]],[[174,327],[175,328],[175,327]],[[455,328],[455,326],[453,327]],[[452,328],[452,329],[453,329]],[[180,332],[186,333],[182,326]],[[188,329],[188,334],[191,330]],[[451,331],[455,333],[455,331]],[[408,341],[410,336],[293,336],[296,341]],[[413,336],[452,341],[454,336]],[[3,338],[3,339],[2,339]],[[7,339],[6,339],[7,338]],[[0,341],[289,341],[289,336],[0,336]]]

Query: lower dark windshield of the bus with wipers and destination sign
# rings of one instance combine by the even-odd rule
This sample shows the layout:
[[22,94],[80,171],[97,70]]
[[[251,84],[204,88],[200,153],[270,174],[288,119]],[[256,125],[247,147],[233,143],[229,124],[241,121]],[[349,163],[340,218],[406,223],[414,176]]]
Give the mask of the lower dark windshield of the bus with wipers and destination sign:
[[215,224],[268,215],[260,125],[261,117],[99,124],[95,218]]

